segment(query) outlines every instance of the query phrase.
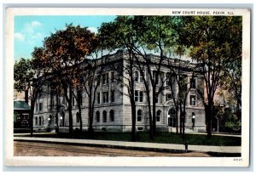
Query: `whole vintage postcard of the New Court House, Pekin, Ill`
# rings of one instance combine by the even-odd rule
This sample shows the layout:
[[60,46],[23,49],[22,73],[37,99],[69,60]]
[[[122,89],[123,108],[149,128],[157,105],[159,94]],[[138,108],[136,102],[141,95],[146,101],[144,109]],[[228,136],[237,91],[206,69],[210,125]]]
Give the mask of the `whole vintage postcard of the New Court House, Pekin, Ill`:
[[248,167],[246,8],[7,8],[5,165]]

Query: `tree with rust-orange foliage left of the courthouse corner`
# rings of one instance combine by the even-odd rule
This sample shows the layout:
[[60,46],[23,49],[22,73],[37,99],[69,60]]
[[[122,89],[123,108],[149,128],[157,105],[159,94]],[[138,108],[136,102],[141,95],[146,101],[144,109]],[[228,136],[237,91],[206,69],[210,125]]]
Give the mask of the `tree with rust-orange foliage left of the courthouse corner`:
[[[95,34],[86,27],[66,25],[66,29],[55,31],[44,39],[42,61],[55,79],[61,82],[69,117],[69,133],[73,133],[72,101],[77,99],[80,110],[79,83],[80,64],[91,54],[96,46]],[[82,127],[81,112],[79,112],[80,128]]]

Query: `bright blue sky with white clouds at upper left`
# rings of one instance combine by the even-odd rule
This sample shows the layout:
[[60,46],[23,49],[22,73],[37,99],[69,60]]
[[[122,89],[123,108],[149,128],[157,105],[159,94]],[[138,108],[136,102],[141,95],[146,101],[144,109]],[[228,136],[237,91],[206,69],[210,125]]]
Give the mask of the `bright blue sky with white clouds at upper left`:
[[65,29],[66,24],[81,25],[96,32],[102,22],[112,21],[115,17],[113,15],[15,16],[15,60],[31,59],[33,48],[43,46],[44,37],[49,37],[55,30]]

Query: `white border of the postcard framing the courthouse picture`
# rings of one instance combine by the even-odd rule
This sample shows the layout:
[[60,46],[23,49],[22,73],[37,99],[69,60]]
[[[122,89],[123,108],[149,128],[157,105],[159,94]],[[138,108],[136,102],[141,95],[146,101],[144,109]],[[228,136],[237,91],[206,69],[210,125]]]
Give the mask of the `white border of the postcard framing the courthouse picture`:
[[[15,15],[177,15],[172,10],[233,12],[242,16],[242,133],[241,161],[234,157],[55,157],[14,156],[13,141],[13,65]],[[190,15],[190,14],[181,14]],[[230,15],[230,14],[224,14]],[[246,8],[7,8],[6,10],[6,80],[5,93],[5,165],[6,166],[70,166],[70,167],[247,167],[249,165],[250,106],[250,29],[251,16]]]

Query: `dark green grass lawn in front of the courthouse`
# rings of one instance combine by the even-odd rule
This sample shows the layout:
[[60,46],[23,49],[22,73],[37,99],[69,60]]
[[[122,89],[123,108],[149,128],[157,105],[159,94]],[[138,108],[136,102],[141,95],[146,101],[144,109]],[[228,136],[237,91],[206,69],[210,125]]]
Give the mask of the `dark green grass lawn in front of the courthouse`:
[[[26,135],[28,136],[28,135]],[[78,138],[78,139],[97,139],[97,140],[115,140],[131,141],[131,133],[95,133],[91,137],[88,133],[74,133],[70,136],[68,133],[59,134],[34,134],[33,137],[39,138]],[[194,145],[217,145],[217,146],[241,146],[240,137],[217,136],[207,138],[205,134],[185,134],[188,144]],[[137,133],[137,142],[162,143],[162,144],[184,144],[183,138],[177,133],[157,133],[154,140],[149,138],[148,133]]]

